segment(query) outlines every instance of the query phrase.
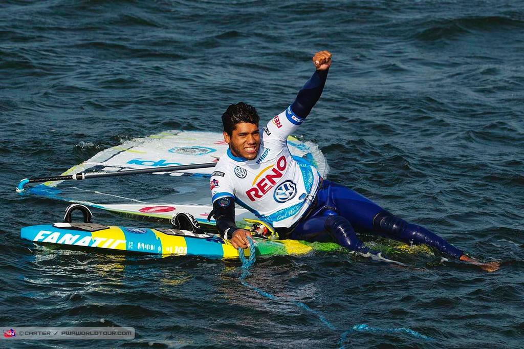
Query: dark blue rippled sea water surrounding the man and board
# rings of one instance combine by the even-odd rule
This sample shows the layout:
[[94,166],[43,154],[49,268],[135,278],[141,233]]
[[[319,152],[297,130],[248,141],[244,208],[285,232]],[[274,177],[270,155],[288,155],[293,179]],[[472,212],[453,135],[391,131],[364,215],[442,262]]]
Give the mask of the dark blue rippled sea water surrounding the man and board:
[[[520,347],[523,33],[520,1],[3,2],[0,325],[137,333],[19,347],[339,347],[341,333],[362,323],[434,340],[351,332],[344,346]],[[281,297],[270,300],[241,285],[238,263],[19,238],[22,226],[59,221],[65,206],[19,196],[21,178],[166,129],[220,132],[220,115],[238,101],[269,119],[294,99],[321,49],[333,65],[300,135],[321,147],[330,179],[501,261],[499,271],[438,253],[402,257],[422,270],[340,253],[275,257],[246,278]],[[177,190],[176,178],[159,181],[143,197]]]

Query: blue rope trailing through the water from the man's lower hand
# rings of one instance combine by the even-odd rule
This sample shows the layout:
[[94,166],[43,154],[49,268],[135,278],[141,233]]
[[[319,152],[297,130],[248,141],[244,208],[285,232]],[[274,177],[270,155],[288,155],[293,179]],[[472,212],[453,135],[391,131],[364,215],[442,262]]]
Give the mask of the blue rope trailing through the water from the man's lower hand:
[[[242,273],[241,273],[241,275],[239,277],[239,280],[242,283],[242,285],[247,287],[247,288],[250,288],[250,289],[254,290],[260,296],[263,296],[263,297],[266,297],[266,298],[269,298],[269,299],[285,300],[287,302],[294,303],[297,307],[300,307],[300,308],[304,309],[305,311],[307,311],[307,312],[309,312],[311,314],[316,315],[316,317],[318,317],[319,320],[327,328],[329,328],[332,331],[336,331],[336,327],[331,322],[329,322],[329,320],[326,319],[324,317],[324,315],[322,315],[322,313],[320,313],[317,310],[311,309],[309,306],[307,306],[307,304],[305,304],[303,302],[292,301],[292,300],[289,300],[289,299],[285,299],[285,298],[277,297],[275,295],[271,295],[271,293],[263,291],[263,290],[259,289],[258,287],[250,285],[249,283],[244,281],[244,279],[247,276],[249,276],[249,268],[252,267],[253,264],[255,264],[255,261],[256,261],[255,243],[253,242],[253,239],[250,238],[249,236],[247,236],[247,239],[249,241],[249,258],[246,258],[246,256],[244,255],[244,250],[242,248],[238,247],[238,256],[240,257],[240,260],[242,261],[242,267],[241,267]],[[381,329],[381,328],[378,328],[378,327],[369,327],[367,324],[361,323],[361,324],[358,324],[358,325],[354,325],[351,330],[344,331],[340,335],[339,344],[340,344],[341,349],[344,348],[344,342],[346,341],[347,336],[351,332],[406,333],[406,334],[409,334],[409,335],[411,335],[411,336],[413,336],[415,338],[419,338],[419,339],[423,339],[423,340],[427,340],[427,341],[432,341],[433,340],[432,337],[428,337],[426,335],[423,335],[421,333],[418,333],[417,331],[413,331],[413,330],[408,329],[406,327]]]

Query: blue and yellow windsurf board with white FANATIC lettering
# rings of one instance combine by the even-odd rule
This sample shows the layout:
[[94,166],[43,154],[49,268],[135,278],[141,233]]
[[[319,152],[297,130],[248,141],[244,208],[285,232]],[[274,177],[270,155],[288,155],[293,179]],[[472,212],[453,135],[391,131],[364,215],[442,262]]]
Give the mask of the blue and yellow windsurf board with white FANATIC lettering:
[[[238,250],[219,235],[191,237],[166,234],[155,228],[104,226],[89,232],[62,228],[51,224],[32,225],[20,230],[20,237],[38,242],[77,247],[102,248],[158,255],[188,255],[207,258],[238,258]],[[256,255],[304,255],[315,248],[314,244],[295,240],[269,240],[255,238]],[[328,244],[328,250],[339,249]],[[323,246],[322,250],[325,250]],[[249,249],[244,250],[249,256]]]

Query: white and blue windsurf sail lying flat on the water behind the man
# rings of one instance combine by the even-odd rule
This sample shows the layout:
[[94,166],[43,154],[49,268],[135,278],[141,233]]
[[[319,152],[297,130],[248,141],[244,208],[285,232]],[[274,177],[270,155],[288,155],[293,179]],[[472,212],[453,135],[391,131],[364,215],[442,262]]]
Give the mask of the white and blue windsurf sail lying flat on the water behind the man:
[[[92,158],[64,171],[62,175],[79,172],[116,172],[130,169],[158,168],[218,161],[225,154],[227,144],[222,133],[167,130],[155,135],[134,138],[121,145],[105,149]],[[329,166],[322,152],[310,141],[288,138],[291,154],[310,162],[321,176],[328,174]],[[112,212],[124,213],[123,204],[135,204],[130,213],[154,216],[161,206],[209,205],[210,191],[206,177],[213,168],[182,171],[161,171],[136,176],[93,179],[88,182],[52,181],[29,188],[31,194],[68,202],[83,203]],[[160,180],[158,176],[166,176]],[[160,206],[160,208],[158,208]],[[152,209],[147,209],[148,207]],[[208,208],[198,208],[200,214]],[[142,210],[142,211],[140,211]],[[166,209],[163,209],[166,210]],[[240,214],[249,216],[245,210]],[[166,215],[166,212],[160,212]]]

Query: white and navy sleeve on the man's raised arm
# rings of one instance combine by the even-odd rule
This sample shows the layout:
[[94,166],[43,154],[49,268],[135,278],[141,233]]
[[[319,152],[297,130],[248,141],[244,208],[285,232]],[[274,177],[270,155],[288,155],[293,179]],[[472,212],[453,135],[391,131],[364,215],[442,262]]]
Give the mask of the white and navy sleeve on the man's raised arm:
[[272,118],[264,128],[264,132],[268,136],[287,139],[294,130],[302,125],[305,117],[309,115],[313,106],[320,99],[326,78],[328,78],[328,70],[316,70],[298,92],[293,103],[285,111]]

